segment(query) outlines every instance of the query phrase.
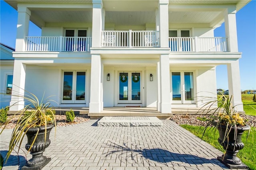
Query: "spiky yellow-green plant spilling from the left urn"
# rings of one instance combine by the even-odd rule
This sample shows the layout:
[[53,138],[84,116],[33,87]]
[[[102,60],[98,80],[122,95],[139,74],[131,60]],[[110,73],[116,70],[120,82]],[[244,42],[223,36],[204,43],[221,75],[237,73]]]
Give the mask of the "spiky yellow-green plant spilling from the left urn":
[[[4,131],[6,125],[14,118],[18,117],[17,123],[12,131],[10,143],[9,143],[9,149],[6,154],[6,162],[8,158],[10,157],[10,154],[12,150],[17,146],[18,152],[20,150],[22,141],[26,135],[26,132],[28,129],[32,127],[45,127],[45,135],[44,140],[46,141],[46,127],[47,125],[54,124],[55,126],[55,134],[56,134],[56,119],[55,119],[55,110],[53,107],[51,107],[50,102],[54,102],[53,100],[49,100],[50,97],[44,98],[44,94],[42,97],[42,100],[39,100],[36,95],[32,94],[31,92],[28,92],[24,90],[26,94],[20,95],[18,93],[15,93],[12,91],[12,94],[10,94],[12,97],[16,98],[24,98],[24,102],[28,103],[24,106],[24,109],[20,111],[16,111],[12,116],[10,116],[5,123],[3,123],[0,127],[2,128],[0,135]],[[0,93],[5,94],[6,93]],[[19,102],[19,101],[18,101]],[[18,105],[18,102],[13,104],[12,106]],[[10,106],[10,107],[12,107]],[[38,128],[38,131],[36,133],[36,136],[34,138],[34,141],[31,144],[31,147],[29,148],[28,152],[31,150],[34,142],[36,141],[36,137],[38,136],[40,128]]]

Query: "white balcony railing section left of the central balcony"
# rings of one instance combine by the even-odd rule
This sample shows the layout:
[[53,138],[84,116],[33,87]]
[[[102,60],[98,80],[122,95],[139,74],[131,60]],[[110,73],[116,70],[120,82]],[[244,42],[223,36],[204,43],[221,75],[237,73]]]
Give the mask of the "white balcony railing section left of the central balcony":
[[89,52],[92,37],[26,37],[26,51]]

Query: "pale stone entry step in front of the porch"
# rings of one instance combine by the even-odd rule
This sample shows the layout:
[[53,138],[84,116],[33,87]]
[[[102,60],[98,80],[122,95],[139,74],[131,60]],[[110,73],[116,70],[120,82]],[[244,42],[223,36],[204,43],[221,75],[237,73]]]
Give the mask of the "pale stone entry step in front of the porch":
[[104,116],[98,126],[161,126],[163,122],[154,116]]

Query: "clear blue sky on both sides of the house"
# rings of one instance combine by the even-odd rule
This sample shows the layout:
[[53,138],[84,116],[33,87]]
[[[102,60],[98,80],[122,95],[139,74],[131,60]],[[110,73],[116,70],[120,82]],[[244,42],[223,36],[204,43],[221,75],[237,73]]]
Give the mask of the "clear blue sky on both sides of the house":
[[[252,0],[236,14],[241,90],[256,89],[256,0]],[[18,14],[0,0],[0,42],[15,48]],[[40,36],[41,30],[30,22],[29,36]],[[215,29],[216,37],[225,37],[224,23]],[[216,68],[217,88],[228,89],[226,65]]]

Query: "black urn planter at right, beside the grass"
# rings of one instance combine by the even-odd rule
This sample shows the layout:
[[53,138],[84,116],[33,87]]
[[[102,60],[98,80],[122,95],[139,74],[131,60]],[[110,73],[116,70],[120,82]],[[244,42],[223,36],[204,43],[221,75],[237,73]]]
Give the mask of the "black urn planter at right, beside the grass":
[[218,126],[218,131],[220,135],[220,137],[218,138],[218,142],[226,150],[225,154],[223,154],[222,156],[218,156],[218,160],[228,166],[228,168],[248,169],[248,166],[243,164],[242,161],[238,157],[236,157],[236,154],[239,150],[244,148],[244,143],[242,143],[242,134],[244,133],[244,131],[247,131],[249,129],[250,126],[248,125],[244,127],[237,127],[236,130],[234,127],[231,127],[228,138],[224,139],[226,125]]

